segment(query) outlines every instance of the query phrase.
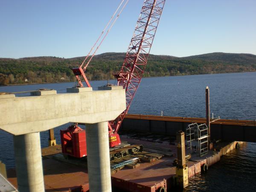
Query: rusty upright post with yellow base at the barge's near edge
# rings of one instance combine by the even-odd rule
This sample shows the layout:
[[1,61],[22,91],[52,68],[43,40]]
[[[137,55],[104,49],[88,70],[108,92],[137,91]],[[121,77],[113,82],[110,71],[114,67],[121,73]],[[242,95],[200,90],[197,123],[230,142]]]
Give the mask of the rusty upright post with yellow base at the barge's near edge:
[[183,131],[176,134],[177,140],[177,166],[176,166],[176,184],[182,188],[189,185],[189,172],[186,166],[185,157],[185,137]]

